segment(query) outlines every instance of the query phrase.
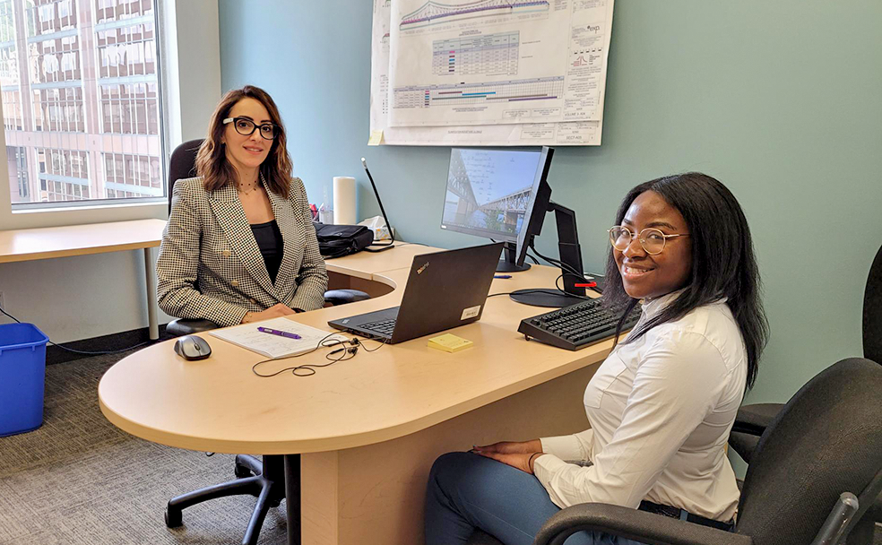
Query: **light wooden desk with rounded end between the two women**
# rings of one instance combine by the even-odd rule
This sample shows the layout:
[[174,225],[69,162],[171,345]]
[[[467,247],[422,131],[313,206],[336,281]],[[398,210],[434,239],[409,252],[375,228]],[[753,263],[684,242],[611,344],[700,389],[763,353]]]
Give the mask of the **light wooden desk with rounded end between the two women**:
[[[397,305],[408,270],[376,272],[395,251],[359,264],[362,275],[392,291],[293,319],[331,331],[330,319]],[[343,264],[333,260],[329,268],[341,271]],[[490,293],[549,287],[557,276],[534,266],[493,281]],[[488,298],[480,322],[452,330],[473,341],[471,349],[448,354],[420,338],[359,350],[308,377],[255,376],[251,367],[261,356],[207,333],[213,352],[202,361],[180,359],[172,342],[163,342],[108,370],[99,385],[101,411],[117,427],[164,445],[302,454],[305,544],[422,543],[426,479],[439,454],[587,426],[584,387],[611,342],[570,352],[525,341],[518,323],[541,312],[506,296]],[[326,360],[316,352],[293,361]]]

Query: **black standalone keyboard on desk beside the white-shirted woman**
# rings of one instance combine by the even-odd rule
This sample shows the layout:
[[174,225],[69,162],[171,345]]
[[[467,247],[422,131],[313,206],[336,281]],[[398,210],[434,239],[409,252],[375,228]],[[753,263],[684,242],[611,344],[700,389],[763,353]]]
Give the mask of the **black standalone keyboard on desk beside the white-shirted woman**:
[[[552,310],[532,318],[524,318],[517,331],[523,336],[566,350],[579,350],[616,334],[621,312],[601,306],[597,299]],[[627,331],[640,318],[636,307],[627,316],[622,331]]]

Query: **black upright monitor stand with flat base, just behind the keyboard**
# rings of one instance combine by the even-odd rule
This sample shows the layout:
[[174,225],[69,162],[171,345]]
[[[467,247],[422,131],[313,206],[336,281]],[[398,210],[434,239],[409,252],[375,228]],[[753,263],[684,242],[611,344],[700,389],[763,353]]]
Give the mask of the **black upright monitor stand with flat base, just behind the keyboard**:
[[[513,291],[508,297],[533,307],[569,307],[585,300],[585,289],[576,287],[577,278],[584,277],[582,268],[582,250],[579,248],[579,233],[575,229],[575,212],[558,203],[549,203],[549,212],[554,211],[555,222],[558,224],[558,252],[560,268],[564,274],[564,292],[557,289],[535,288]],[[532,247],[532,239],[530,240]],[[572,272],[572,274],[570,274]],[[576,276],[578,272],[578,276]]]

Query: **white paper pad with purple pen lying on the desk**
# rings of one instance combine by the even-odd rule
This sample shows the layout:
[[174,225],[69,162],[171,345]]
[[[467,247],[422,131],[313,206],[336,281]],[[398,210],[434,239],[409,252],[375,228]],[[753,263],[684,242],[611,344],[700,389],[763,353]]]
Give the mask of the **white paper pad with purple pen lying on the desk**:
[[[300,338],[290,339],[289,337],[281,337],[272,333],[263,333],[257,331],[258,327],[268,327],[287,333],[297,333],[300,335]],[[341,334],[328,336],[329,333],[325,331],[299,324],[285,317],[272,318],[272,320],[255,322],[253,324],[236,325],[235,327],[213,330],[209,333],[212,333],[212,335],[219,339],[232,342],[246,350],[257,352],[271,359],[286,358],[314,350],[323,339],[324,342],[347,340]]]

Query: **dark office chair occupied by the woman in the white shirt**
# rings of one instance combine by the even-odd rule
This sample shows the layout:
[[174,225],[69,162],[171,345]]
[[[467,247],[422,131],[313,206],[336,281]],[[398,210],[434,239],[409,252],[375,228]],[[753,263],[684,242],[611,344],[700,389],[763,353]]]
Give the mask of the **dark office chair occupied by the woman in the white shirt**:
[[[534,545],[560,545],[584,530],[653,544],[865,543],[875,524],[863,515],[880,491],[882,366],[843,359],[804,385],[766,428],[741,490],[735,532],[582,504],[549,518]],[[483,532],[470,543],[499,545]]]

